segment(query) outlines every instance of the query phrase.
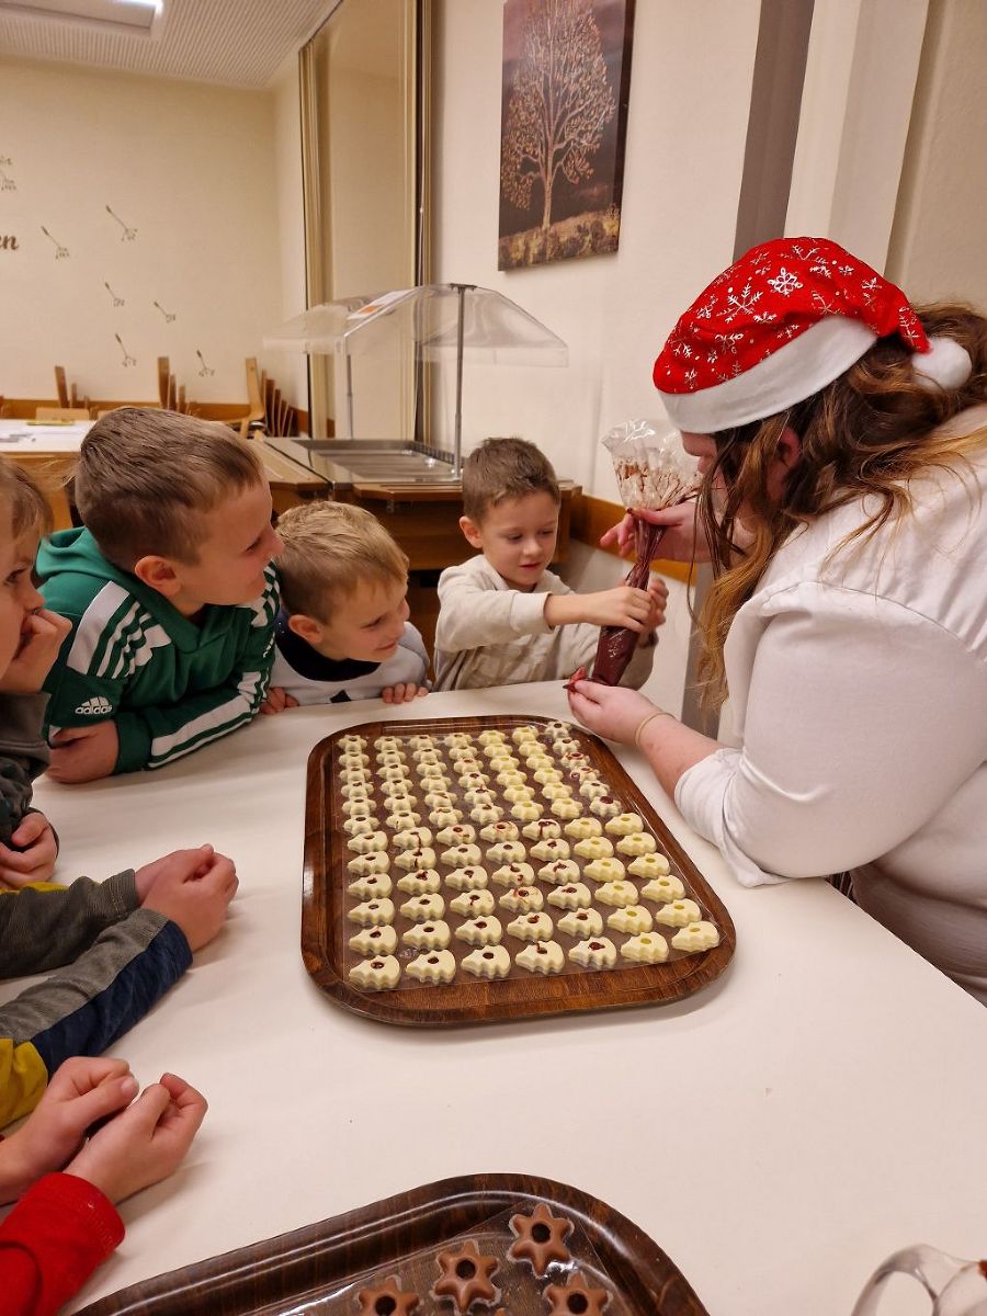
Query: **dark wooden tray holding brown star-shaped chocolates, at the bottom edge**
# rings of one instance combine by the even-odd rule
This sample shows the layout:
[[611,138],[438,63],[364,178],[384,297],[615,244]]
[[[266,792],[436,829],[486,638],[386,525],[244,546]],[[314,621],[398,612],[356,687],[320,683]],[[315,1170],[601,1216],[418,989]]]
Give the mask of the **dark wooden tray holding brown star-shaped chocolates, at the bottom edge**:
[[[368,1271],[391,1274],[412,1254],[479,1234],[503,1212],[530,1213],[540,1202],[571,1220],[571,1238],[595,1253],[600,1278],[615,1295],[607,1316],[708,1316],[674,1262],[625,1216],[579,1188],[511,1174],[442,1179],[132,1284],[80,1316],[287,1316],[303,1300],[308,1309],[320,1299],[320,1312],[342,1316],[359,1309],[347,1290]],[[536,1291],[533,1283],[529,1288]],[[422,1295],[416,1316],[453,1311],[450,1303]],[[492,1316],[495,1308],[482,1311]],[[511,1312],[544,1316],[545,1304],[513,1305]]]

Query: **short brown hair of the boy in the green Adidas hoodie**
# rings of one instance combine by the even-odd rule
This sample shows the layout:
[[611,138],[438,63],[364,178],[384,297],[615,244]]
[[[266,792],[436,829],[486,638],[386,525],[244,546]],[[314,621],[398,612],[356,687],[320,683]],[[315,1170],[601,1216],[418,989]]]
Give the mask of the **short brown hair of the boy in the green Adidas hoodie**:
[[226,425],[120,407],[82,442],[75,503],[100,553],[133,571],[147,554],[197,562],[205,513],[265,483],[257,451]]

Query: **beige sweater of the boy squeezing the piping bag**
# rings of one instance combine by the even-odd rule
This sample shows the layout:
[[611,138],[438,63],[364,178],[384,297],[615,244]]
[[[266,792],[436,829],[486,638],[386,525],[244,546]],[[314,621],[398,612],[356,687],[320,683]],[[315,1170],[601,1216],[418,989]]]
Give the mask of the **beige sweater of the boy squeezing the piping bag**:
[[[446,567],[438,578],[436,690],[565,680],[590,667],[600,628],[586,621],[553,628],[545,620],[546,597],[572,592],[553,571],[530,591],[515,590],[483,554]],[[621,684],[644,686],[653,659],[654,644],[638,646]]]

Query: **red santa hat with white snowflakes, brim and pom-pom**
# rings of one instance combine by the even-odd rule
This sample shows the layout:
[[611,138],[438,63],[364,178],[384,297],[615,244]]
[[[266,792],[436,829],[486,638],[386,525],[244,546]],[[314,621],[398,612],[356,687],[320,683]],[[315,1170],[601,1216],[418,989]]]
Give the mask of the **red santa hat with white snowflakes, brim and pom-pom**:
[[958,388],[970,357],[928,338],[908,299],[829,238],[775,238],[713,279],[669,336],[654,387],[674,425],[713,434],[811,397],[878,338],[912,349],[916,382]]

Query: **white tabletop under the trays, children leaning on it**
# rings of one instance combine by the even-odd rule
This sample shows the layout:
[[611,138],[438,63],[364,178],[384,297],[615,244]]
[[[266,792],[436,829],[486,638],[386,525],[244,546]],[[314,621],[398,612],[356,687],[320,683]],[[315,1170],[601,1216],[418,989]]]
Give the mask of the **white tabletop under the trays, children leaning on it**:
[[209,1113],[176,1173],[122,1204],[125,1241],[68,1309],[486,1173],[608,1203],[722,1316],[849,1316],[908,1244],[984,1254],[987,1011],[825,879],[740,886],[633,747],[611,746],[733,920],[712,984],[468,1028],[393,1026],[318,990],[300,951],[313,746],[380,720],[517,713],[571,717],[561,683],[328,704],[154,772],[37,783],[57,880],[203,842],[240,876],[221,934],[113,1048],[142,1083],[183,1075]]

